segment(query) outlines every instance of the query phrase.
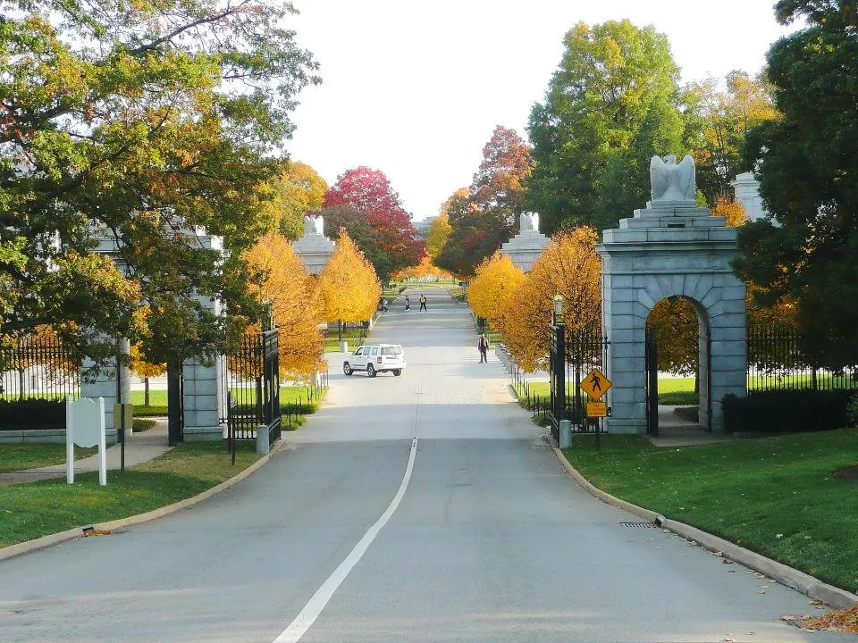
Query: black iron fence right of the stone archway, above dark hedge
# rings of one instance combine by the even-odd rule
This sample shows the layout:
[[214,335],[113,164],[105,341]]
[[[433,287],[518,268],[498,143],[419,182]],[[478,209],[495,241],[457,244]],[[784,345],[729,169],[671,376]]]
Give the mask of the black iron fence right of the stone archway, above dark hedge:
[[858,366],[820,368],[792,324],[748,324],[748,392],[858,388]]

